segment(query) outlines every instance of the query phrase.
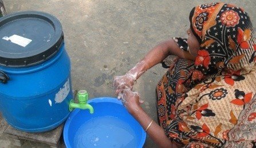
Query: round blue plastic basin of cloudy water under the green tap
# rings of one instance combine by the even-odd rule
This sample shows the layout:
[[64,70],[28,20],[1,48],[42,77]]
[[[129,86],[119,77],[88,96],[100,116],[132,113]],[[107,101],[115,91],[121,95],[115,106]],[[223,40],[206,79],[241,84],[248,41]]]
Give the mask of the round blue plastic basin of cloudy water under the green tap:
[[94,98],[89,110],[75,109],[64,126],[66,147],[143,147],[146,133],[116,98]]

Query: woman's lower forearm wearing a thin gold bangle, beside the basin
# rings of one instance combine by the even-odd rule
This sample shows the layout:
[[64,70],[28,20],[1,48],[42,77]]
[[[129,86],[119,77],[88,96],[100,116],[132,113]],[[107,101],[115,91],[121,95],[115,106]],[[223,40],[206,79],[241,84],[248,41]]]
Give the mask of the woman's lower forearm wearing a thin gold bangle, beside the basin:
[[[144,112],[142,108],[137,108],[132,112],[133,117],[146,130],[152,119]],[[159,147],[176,147],[171,140],[166,137],[164,129],[160,127],[155,121],[149,126],[147,134]]]

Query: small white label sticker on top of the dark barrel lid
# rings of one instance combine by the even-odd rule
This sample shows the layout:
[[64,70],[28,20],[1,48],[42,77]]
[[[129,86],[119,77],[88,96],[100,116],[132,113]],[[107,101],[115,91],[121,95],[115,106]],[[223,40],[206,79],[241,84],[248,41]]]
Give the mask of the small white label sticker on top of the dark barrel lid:
[[19,46],[26,47],[32,40],[24,38],[19,35],[11,35],[10,37],[5,36],[2,39],[4,40],[10,40],[14,44],[18,44]]

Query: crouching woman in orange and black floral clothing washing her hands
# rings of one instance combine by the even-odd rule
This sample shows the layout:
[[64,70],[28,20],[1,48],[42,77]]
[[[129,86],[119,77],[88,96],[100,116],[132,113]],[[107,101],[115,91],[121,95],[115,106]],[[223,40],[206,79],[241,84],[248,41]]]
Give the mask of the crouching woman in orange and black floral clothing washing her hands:
[[[253,147],[256,135],[256,41],[240,7],[210,3],[190,13],[188,39],[160,43],[124,76],[116,95],[160,147]],[[156,87],[159,123],[140,107],[135,81],[178,56]]]

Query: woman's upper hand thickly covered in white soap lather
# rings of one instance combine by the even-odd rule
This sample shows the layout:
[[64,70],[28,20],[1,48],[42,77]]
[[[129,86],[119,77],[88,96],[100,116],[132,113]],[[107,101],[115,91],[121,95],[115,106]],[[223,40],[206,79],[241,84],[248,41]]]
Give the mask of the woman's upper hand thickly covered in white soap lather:
[[125,89],[132,91],[133,84],[135,83],[136,79],[131,75],[123,75],[123,76],[116,76],[113,80],[113,87],[115,89],[115,94],[117,98],[120,100]]

